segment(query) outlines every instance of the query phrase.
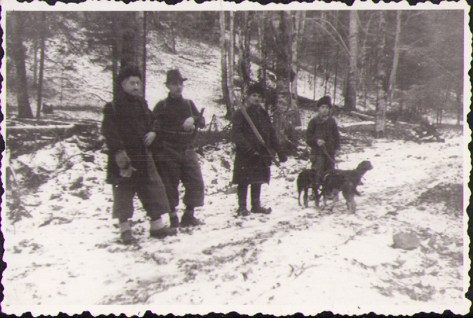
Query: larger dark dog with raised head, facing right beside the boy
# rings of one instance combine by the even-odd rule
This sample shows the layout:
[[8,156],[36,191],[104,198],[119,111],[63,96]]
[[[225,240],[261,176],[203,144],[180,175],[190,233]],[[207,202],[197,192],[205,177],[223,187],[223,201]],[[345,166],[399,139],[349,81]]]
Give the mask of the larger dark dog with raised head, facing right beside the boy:
[[373,169],[373,166],[370,161],[362,161],[355,170],[334,170],[327,174],[322,181],[321,195],[324,197],[324,208],[327,207],[327,201],[331,199],[330,210],[332,210],[341,191],[345,201],[347,201],[349,212],[355,213],[355,195],[360,196],[360,192],[356,190],[356,187],[362,184],[363,175],[371,169]]

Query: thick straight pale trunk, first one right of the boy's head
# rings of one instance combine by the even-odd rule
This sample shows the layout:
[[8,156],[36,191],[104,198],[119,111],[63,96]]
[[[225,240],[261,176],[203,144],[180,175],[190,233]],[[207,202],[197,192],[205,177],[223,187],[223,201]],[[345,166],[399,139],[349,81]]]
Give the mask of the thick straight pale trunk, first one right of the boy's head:
[[350,11],[349,25],[349,47],[350,47],[350,66],[347,78],[347,91],[345,92],[344,109],[353,111],[356,109],[357,95],[357,76],[358,76],[358,13],[356,10]]

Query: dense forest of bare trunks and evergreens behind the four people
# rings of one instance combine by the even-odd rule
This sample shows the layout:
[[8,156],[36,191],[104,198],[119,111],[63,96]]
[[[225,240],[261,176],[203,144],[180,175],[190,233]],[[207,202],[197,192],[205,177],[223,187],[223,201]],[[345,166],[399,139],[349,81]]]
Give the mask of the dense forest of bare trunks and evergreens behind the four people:
[[[289,146],[299,109],[311,105],[298,94],[302,74],[313,100],[331,95],[340,109],[375,116],[378,137],[386,118],[463,118],[463,10],[8,12],[6,23],[8,90],[17,97],[8,106],[20,118],[41,117],[50,99],[85,106],[67,100],[94,86],[94,74],[76,75],[84,61],[109,72],[110,83],[126,65],[146,78],[151,41],[179,54],[185,38],[220,48],[225,117],[245,95],[239,92],[261,82]],[[97,106],[113,96],[110,87],[89,93]]]

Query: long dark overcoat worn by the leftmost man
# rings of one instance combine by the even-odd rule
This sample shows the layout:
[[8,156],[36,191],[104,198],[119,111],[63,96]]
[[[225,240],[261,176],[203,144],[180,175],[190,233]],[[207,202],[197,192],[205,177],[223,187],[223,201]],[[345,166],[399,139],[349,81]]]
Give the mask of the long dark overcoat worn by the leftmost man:
[[[144,135],[153,131],[153,118],[146,100],[120,91],[114,104],[107,103],[103,110],[102,135],[107,145],[107,183],[123,181],[155,181],[154,163],[149,160],[144,146]],[[115,162],[119,150],[126,150],[131,166],[136,169],[131,178],[120,177]],[[151,163],[151,164],[150,164]]]

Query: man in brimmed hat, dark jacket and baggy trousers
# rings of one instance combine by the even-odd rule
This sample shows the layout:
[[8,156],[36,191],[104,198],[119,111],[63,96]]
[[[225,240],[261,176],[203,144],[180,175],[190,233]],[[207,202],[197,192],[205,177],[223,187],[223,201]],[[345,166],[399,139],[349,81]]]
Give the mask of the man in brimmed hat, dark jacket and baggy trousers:
[[[157,170],[161,175],[171,212],[171,227],[202,225],[194,216],[194,208],[203,205],[203,178],[199,159],[194,150],[195,130],[206,126],[203,117],[192,100],[182,98],[182,89],[186,78],[178,69],[170,69],[166,74],[168,97],[159,101],[153,109],[158,140],[154,149]],[[181,223],[177,217],[179,205],[179,181],[182,181],[186,193],[183,202],[186,205]]]

